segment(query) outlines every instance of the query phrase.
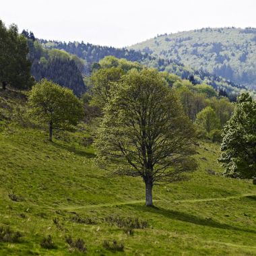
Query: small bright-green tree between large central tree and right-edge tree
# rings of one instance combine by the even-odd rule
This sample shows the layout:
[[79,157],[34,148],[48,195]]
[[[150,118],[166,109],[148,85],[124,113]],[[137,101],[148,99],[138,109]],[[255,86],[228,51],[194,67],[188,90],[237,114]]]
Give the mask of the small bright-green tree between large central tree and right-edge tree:
[[200,127],[203,127],[207,133],[210,133],[213,129],[218,129],[220,127],[220,120],[218,119],[214,109],[210,106],[203,108],[203,110],[197,114],[195,122]]

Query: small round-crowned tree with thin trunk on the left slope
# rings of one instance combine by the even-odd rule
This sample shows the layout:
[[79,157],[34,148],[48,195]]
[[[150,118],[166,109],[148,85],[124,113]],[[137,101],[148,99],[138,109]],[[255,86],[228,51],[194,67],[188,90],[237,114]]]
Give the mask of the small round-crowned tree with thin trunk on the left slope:
[[49,125],[49,140],[53,129],[71,129],[84,116],[82,102],[67,88],[42,79],[32,87],[28,97],[30,114]]

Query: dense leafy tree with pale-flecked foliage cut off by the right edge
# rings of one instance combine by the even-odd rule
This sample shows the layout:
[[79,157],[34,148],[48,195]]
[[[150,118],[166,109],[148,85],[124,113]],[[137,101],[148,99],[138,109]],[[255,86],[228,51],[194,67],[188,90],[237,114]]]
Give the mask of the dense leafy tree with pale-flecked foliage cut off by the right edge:
[[227,177],[256,177],[256,102],[248,93],[238,97],[234,114],[224,127],[219,161]]

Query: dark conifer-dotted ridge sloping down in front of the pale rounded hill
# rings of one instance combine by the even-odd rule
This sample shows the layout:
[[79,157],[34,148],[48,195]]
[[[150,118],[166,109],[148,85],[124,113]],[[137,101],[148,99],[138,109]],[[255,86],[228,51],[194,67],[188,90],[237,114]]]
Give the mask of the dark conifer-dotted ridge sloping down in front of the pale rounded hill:
[[117,49],[108,46],[98,46],[94,44],[84,42],[59,42],[55,40],[38,40],[40,45],[48,51],[53,49],[59,49],[66,51],[71,55],[76,55],[80,59],[85,61],[84,73],[90,75],[92,63],[100,61],[100,59],[113,55],[117,58],[125,58],[129,61],[137,61],[148,67],[154,67],[159,71],[168,71],[179,75],[183,79],[193,79],[193,82],[201,84],[209,84],[213,86],[217,91],[224,91],[228,93],[230,100],[234,100],[236,95],[241,90],[246,89],[245,86],[235,84],[228,79],[219,77],[203,69],[193,69],[186,65],[183,65],[175,59],[166,59],[158,56],[153,56],[150,52],[145,53],[141,51],[135,51],[133,49]]

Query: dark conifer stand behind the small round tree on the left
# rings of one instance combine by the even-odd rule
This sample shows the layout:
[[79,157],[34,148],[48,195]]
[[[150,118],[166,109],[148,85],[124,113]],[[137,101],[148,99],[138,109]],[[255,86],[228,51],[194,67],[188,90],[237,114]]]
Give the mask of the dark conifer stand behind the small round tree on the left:
[[44,49],[34,38],[32,32],[23,31],[27,38],[29,54],[28,58],[32,63],[31,73],[36,81],[42,78],[70,88],[76,95],[81,95],[86,91],[83,81],[85,62],[76,55],[57,49]]

